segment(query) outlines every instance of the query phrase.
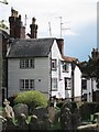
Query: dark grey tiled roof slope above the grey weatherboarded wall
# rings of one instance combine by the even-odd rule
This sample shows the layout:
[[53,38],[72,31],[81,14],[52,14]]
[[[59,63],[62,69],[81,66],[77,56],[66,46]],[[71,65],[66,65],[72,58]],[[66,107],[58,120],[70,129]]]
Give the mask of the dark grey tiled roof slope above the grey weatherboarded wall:
[[15,40],[11,44],[8,57],[43,57],[48,56],[55,38]]

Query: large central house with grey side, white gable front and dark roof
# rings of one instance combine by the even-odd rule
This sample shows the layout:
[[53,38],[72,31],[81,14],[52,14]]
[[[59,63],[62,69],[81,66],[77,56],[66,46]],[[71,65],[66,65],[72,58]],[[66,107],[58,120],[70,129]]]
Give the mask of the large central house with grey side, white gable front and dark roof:
[[72,69],[76,58],[63,55],[63,42],[62,38],[14,40],[8,52],[8,96],[36,89],[56,98],[81,97],[80,70],[76,65]]

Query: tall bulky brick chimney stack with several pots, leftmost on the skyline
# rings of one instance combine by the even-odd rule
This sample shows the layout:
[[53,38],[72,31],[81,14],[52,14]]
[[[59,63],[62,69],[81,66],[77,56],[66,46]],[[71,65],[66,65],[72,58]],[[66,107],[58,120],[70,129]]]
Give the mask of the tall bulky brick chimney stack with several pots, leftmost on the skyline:
[[21,15],[18,16],[18,11],[11,9],[11,16],[9,16],[10,37],[25,38],[25,26],[23,26]]

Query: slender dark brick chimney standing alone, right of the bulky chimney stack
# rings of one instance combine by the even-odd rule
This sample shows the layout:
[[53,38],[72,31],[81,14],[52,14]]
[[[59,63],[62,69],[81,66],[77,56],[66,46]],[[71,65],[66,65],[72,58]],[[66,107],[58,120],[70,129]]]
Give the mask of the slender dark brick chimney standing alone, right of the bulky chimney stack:
[[37,24],[35,24],[36,19],[32,19],[32,24],[30,24],[31,28],[31,38],[36,38],[37,37]]

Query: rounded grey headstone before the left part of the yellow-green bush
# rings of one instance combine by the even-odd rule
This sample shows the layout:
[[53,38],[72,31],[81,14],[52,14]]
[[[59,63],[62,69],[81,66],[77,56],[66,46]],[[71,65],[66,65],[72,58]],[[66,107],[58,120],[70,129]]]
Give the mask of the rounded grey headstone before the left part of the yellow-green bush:
[[24,103],[18,103],[13,107],[15,118],[21,117],[21,113],[29,116],[29,107]]

